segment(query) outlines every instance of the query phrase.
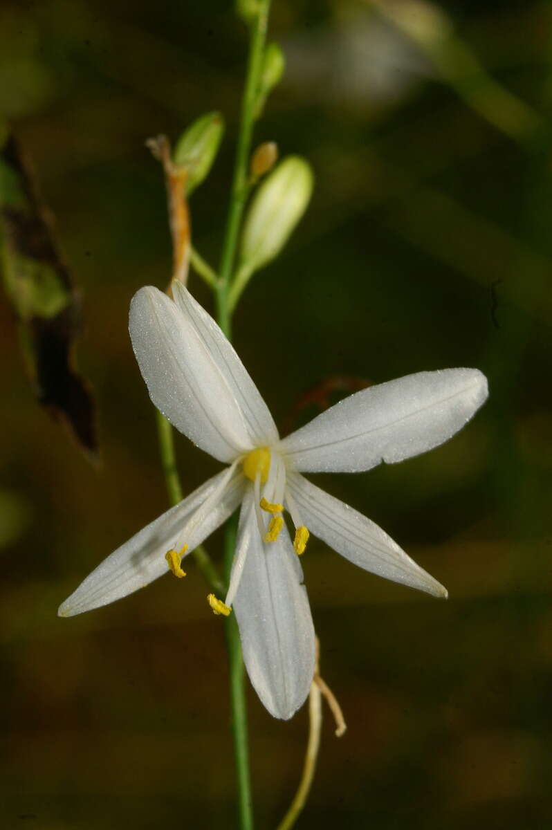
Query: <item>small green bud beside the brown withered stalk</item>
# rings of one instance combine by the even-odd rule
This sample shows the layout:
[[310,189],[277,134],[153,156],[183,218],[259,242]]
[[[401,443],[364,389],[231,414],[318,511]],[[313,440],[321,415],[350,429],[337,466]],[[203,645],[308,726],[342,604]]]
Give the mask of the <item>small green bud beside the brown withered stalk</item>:
[[186,195],[189,196],[208,175],[217,155],[224,132],[224,121],[218,112],[208,112],[193,121],[178,139],[174,164],[188,173]]

